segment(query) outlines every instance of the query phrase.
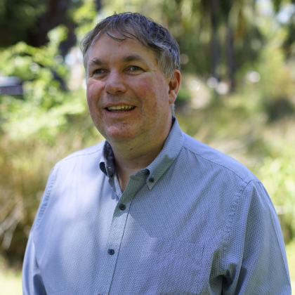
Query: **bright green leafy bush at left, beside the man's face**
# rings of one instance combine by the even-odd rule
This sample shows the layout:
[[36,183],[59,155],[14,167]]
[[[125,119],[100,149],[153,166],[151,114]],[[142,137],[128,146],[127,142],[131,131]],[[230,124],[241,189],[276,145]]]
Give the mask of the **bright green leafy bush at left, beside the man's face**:
[[21,42],[0,52],[3,74],[25,81],[22,98],[0,98],[0,116],[4,120],[1,129],[11,138],[21,140],[30,135],[54,138],[67,123],[67,115],[85,112],[81,93],[74,96],[63,89],[62,82],[70,73],[60,60],[58,46],[66,36],[65,27],[60,26],[48,34],[50,41],[46,47],[34,48]]

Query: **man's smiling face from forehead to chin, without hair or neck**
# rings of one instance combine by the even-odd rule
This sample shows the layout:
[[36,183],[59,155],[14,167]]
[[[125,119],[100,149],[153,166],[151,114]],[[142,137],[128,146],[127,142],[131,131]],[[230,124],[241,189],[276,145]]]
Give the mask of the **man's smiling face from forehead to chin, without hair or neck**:
[[102,35],[89,48],[86,81],[91,118],[110,143],[148,143],[171,126],[177,90],[171,92],[155,55],[137,40]]

